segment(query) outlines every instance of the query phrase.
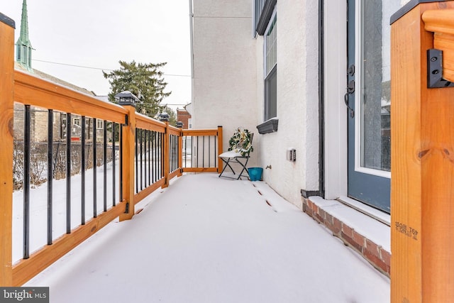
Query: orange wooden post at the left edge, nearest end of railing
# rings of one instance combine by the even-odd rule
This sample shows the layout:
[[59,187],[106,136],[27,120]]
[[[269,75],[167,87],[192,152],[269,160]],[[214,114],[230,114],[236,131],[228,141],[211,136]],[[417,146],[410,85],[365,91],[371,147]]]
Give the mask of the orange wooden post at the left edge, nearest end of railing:
[[0,285],[13,286],[13,94],[15,23],[0,13]]

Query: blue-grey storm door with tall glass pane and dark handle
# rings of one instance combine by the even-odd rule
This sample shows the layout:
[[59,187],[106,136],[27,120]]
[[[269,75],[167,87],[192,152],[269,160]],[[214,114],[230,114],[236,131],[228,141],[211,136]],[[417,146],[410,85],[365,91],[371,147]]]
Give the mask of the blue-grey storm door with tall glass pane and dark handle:
[[397,0],[348,0],[348,196],[389,213],[390,26]]

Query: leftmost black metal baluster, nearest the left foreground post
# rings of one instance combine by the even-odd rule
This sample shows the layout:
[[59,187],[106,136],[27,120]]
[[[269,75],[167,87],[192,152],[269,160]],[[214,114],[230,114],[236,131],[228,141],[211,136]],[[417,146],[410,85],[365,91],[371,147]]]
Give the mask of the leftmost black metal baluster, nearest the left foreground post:
[[25,106],[23,123],[23,258],[28,259],[30,257],[30,105]]

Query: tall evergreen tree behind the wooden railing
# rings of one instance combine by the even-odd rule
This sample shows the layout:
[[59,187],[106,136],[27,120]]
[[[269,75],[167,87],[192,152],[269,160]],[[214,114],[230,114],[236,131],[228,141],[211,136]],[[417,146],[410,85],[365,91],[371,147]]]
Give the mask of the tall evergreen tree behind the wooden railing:
[[119,92],[130,91],[140,99],[135,110],[140,114],[153,117],[160,113],[163,106],[160,102],[168,97],[171,92],[164,92],[167,85],[162,78],[160,68],[166,65],[163,63],[136,63],[119,61],[121,67],[112,72],[102,72],[104,78],[109,79],[111,92],[109,101],[115,102],[115,95]]

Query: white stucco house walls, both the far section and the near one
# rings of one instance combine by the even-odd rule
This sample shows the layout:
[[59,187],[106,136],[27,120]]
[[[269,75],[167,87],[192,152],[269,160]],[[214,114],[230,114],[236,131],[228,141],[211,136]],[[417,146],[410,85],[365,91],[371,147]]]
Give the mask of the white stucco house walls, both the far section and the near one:
[[[194,0],[194,128],[238,126],[255,133],[252,162],[264,180],[301,207],[319,189],[318,1],[277,2],[277,133],[264,117],[263,37],[252,36],[252,1]],[[286,160],[288,148],[297,161]],[[265,169],[271,165],[271,169]]]

